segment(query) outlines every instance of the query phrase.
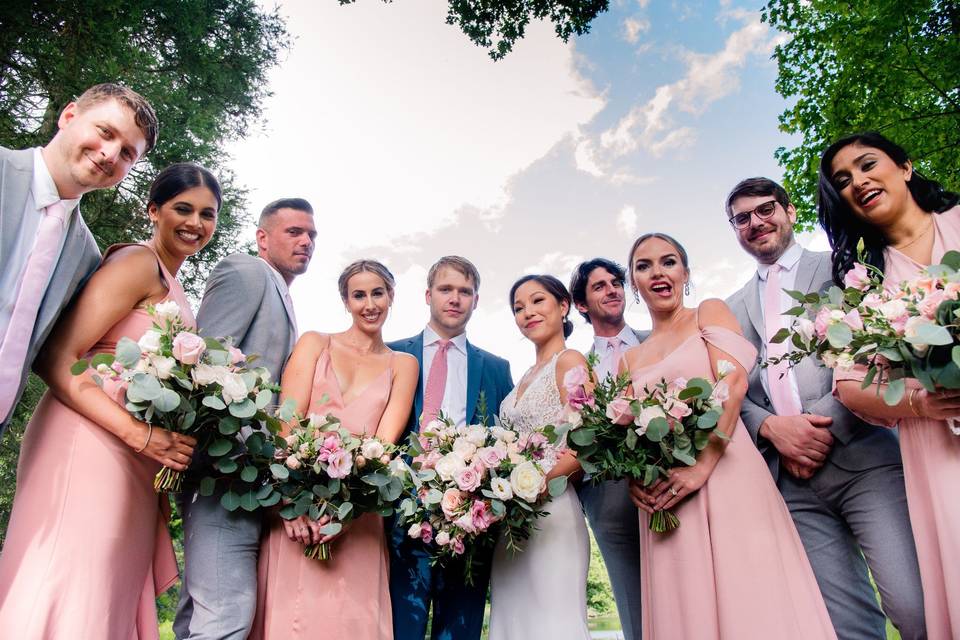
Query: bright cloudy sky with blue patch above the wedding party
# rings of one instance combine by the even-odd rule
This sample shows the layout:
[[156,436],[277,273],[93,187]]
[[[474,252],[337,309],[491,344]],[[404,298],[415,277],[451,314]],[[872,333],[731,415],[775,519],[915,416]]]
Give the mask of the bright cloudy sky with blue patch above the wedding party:
[[[723,202],[743,178],[782,176],[774,151],[793,141],[777,128],[771,55],[784,36],[736,0],[610,5],[568,43],[531,25],[499,62],[445,23],[441,0],[279,5],[293,45],[259,131],[230,153],[254,211],[313,204],[317,247],[291,287],[301,331],[349,326],[337,276],[373,258],[397,278],[385,339],[414,335],[427,270],[459,254],[481,276],[468,339],[517,380],[534,360],[507,300],[523,274],[569,282],[578,262],[623,264],[637,236],[661,231],[690,255],[689,305],[746,282],[755,265]],[[626,317],[650,326],[632,300]],[[568,346],[588,349],[590,327],[571,318]]]

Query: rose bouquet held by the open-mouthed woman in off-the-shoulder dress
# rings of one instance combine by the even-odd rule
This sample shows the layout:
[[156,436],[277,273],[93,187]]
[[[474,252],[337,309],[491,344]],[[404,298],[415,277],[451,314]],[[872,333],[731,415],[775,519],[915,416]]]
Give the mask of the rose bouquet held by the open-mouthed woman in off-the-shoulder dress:
[[[591,481],[635,478],[645,486],[668,477],[671,468],[693,466],[710,436],[717,430],[729,389],[723,378],[733,371],[719,362],[717,383],[704,378],[677,378],[647,385],[636,395],[626,393],[626,374],[607,376],[594,384],[593,363],[575,367],[564,376],[569,408],[568,446]],[[662,533],[680,526],[670,511],[650,517],[651,531]]]

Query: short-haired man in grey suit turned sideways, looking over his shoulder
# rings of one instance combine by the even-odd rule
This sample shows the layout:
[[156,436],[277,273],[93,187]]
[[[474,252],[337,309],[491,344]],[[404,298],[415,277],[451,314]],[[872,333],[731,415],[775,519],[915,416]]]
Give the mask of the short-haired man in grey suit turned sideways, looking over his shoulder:
[[[257,228],[258,256],[235,253],[210,275],[197,314],[200,332],[233,336],[279,381],[298,336],[288,287],[306,272],[316,236],[309,202],[268,204]],[[204,497],[196,487],[182,495],[184,573],[174,633],[180,640],[244,640],[257,605],[260,514],[229,512],[218,493]]]

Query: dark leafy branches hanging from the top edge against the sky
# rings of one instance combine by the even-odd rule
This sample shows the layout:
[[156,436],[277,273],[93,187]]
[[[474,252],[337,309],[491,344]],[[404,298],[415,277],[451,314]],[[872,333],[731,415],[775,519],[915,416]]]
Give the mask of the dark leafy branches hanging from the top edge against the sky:
[[523,39],[531,20],[549,20],[566,42],[573,34],[589,32],[593,19],[609,6],[609,0],[449,0],[447,24],[460,27],[471,42],[500,60]]

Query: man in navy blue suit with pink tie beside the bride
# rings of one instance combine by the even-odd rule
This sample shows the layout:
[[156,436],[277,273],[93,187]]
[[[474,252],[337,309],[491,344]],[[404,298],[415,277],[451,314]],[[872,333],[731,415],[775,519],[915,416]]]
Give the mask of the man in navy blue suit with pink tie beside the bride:
[[[457,425],[493,424],[503,398],[513,388],[510,364],[467,342],[467,322],[477,308],[480,274],[459,256],[440,258],[427,274],[430,322],[412,338],[392,342],[394,351],[416,356],[420,380],[408,427],[436,418],[438,412]],[[479,403],[483,394],[486,412]],[[490,581],[491,557],[480,559],[473,585],[464,584],[463,565],[430,565],[430,553],[419,540],[393,527],[390,549],[390,600],[395,640],[423,640],[433,606],[434,640],[477,640],[483,628],[483,611]]]

